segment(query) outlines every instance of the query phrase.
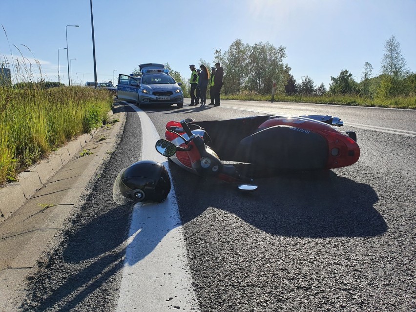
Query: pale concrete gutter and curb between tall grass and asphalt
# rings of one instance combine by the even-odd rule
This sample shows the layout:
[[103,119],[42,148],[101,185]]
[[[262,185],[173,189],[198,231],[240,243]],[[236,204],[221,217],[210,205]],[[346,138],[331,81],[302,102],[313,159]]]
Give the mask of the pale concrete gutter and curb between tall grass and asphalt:
[[[27,276],[36,270],[40,259],[45,257],[45,250],[56,246],[62,223],[77,207],[88,182],[97,177],[97,170],[118,144],[125,113],[118,105],[115,112],[110,120],[119,122],[99,129],[88,143],[88,138],[82,136],[75,144],[65,146],[60,156],[55,153],[52,159],[44,162],[46,165],[42,166],[47,166],[46,169],[36,174],[23,173],[25,178],[20,185],[25,185],[26,190],[20,199],[23,205],[0,224],[0,293],[3,299],[0,311],[14,311],[21,304]],[[70,159],[68,157],[62,166],[62,157],[67,157],[62,156],[65,150]],[[80,151],[85,151],[84,156]],[[60,162],[60,169],[55,170]],[[49,180],[46,178],[48,170],[53,171]],[[30,194],[31,187],[39,189]]]

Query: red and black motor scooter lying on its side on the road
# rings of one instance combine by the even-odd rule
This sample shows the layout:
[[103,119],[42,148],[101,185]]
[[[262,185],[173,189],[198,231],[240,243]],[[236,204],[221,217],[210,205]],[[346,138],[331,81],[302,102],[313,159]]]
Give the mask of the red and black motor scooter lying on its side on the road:
[[251,191],[257,188],[253,177],[354,164],[360,156],[356,134],[342,125],[337,117],[321,115],[171,121],[167,140],[158,140],[156,150],[188,171],[245,183],[239,189]]

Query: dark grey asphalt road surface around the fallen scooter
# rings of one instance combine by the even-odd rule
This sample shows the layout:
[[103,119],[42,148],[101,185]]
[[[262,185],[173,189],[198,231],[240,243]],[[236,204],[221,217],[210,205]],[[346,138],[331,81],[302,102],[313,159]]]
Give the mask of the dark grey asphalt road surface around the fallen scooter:
[[[416,111],[237,101],[145,110],[161,137],[170,120],[260,112],[334,115],[358,136],[353,166],[259,179],[250,194],[170,166],[201,311],[416,311]],[[115,310],[131,207],[111,203],[111,189],[154,144],[138,133],[127,113],[120,145],[22,310]]]

